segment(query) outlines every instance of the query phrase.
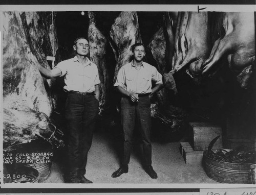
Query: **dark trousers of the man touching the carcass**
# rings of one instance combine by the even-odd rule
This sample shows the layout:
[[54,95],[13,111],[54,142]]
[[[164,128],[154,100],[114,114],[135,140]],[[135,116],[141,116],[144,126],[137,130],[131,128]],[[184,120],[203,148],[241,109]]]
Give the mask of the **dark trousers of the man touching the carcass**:
[[94,95],[69,93],[66,101],[66,123],[69,130],[68,160],[70,172],[86,173],[88,152],[99,102]]

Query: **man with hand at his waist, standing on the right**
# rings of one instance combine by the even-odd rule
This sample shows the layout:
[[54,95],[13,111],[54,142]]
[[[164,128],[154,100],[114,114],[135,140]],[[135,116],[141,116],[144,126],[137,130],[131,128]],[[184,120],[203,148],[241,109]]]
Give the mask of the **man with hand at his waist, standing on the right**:
[[[142,43],[135,43],[131,50],[134,59],[131,63],[120,68],[114,84],[116,90],[122,94],[121,124],[123,127],[124,149],[122,164],[112,174],[112,177],[116,178],[123,173],[128,173],[132,136],[137,118],[142,137],[143,167],[152,179],[157,179],[157,174],[152,167],[150,97],[163,88],[162,76],[154,66],[142,61],[145,56],[145,47]],[[152,88],[152,80],[156,82],[154,88]]]

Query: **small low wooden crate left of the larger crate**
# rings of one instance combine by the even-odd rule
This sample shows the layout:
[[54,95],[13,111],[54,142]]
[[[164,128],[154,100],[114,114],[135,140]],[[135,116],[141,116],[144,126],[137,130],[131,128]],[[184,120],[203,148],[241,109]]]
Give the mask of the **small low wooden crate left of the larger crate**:
[[183,148],[183,158],[186,164],[202,164],[203,151],[194,151],[191,146],[185,147]]

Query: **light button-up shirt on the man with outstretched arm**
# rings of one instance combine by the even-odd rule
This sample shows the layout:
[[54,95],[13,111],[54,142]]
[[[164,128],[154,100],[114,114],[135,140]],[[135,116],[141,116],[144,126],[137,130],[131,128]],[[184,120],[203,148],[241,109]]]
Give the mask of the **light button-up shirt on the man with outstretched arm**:
[[94,92],[95,85],[100,83],[97,65],[88,58],[84,65],[75,56],[58,63],[54,68],[61,70],[60,77],[65,76],[65,91]]

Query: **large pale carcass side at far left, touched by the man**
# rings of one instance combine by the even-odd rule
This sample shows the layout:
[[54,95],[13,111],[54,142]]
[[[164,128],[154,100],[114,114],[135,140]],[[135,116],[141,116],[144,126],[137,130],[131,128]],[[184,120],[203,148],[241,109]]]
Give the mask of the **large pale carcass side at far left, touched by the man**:
[[[27,43],[18,12],[4,12],[3,93],[4,106],[26,101],[31,109],[50,116],[52,104],[46,93],[37,59]],[[13,105],[16,105],[15,102]]]

